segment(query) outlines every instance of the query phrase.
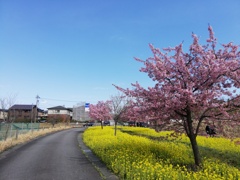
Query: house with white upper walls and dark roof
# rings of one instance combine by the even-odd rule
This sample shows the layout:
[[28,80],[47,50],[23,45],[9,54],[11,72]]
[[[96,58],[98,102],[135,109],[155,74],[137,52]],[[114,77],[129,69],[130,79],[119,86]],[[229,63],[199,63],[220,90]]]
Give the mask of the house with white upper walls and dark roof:
[[55,106],[48,108],[48,122],[69,122],[72,119],[72,108]]

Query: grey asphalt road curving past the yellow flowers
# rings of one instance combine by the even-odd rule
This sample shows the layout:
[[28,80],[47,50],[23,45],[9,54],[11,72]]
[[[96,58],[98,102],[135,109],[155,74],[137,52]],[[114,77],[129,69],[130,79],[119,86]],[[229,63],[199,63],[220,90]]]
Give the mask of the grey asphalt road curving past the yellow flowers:
[[0,180],[102,179],[79,147],[82,132],[57,132],[0,154]]

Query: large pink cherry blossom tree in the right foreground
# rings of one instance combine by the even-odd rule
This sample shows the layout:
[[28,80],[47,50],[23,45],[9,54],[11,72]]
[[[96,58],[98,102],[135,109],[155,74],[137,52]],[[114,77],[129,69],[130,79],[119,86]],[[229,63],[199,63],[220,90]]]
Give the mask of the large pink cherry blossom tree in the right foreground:
[[146,60],[136,58],[143,63],[140,71],[156,82],[154,87],[144,88],[138,82],[131,89],[116,86],[127,96],[135,97],[150,120],[165,125],[175,119],[190,139],[196,166],[201,164],[196,137],[203,120],[237,121],[239,117],[238,46],[230,42],[217,48],[211,26],[208,31],[205,45],[192,34],[193,43],[187,53],[183,43],[163,50],[150,44],[153,56]]

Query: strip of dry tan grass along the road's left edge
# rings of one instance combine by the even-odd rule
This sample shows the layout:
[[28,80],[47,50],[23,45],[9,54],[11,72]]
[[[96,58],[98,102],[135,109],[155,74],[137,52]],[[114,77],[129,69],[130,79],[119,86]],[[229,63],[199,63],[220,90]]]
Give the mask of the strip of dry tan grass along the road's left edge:
[[33,131],[33,132],[30,131],[29,133],[21,134],[18,136],[18,139],[8,138],[6,141],[0,141],[0,153],[2,153],[3,151],[6,151],[7,149],[9,149],[13,146],[18,145],[18,144],[29,142],[32,139],[35,139],[37,137],[44,136],[44,135],[52,133],[52,132],[69,129],[69,128],[70,128],[70,126],[40,129],[38,131]]

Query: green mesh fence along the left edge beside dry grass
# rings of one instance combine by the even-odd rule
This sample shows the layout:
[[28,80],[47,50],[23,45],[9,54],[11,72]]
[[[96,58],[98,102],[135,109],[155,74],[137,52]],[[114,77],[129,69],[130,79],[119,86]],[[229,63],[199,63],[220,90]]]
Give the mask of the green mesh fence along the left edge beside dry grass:
[[7,138],[18,138],[20,134],[38,131],[40,123],[0,123],[0,141]]

